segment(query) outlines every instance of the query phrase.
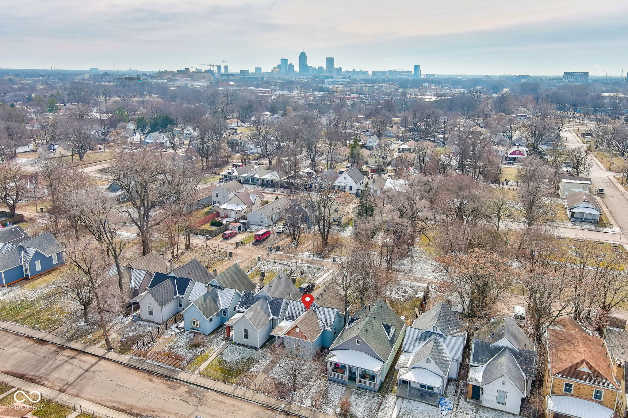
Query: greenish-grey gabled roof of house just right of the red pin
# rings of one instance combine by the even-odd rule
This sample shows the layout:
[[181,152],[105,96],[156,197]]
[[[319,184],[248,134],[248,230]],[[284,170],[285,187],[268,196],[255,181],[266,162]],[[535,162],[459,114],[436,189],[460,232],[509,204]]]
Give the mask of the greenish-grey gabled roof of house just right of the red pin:
[[[379,360],[386,362],[396,340],[401,337],[403,327],[406,325],[404,321],[381,299],[360,309],[354,316],[360,319],[342,330],[330,350],[348,340],[359,337],[372,348]],[[392,325],[395,328],[393,338],[388,338],[386,329],[382,327],[383,324]]]

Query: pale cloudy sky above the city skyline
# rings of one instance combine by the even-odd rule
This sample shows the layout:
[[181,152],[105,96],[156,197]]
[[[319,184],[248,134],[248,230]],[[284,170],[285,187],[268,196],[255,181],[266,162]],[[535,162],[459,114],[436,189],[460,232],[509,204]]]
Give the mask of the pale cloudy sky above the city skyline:
[[[561,75],[628,70],[628,2],[20,0],[0,4],[0,68],[344,70]],[[222,64],[222,63],[220,63]],[[624,73],[625,74],[625,73]]]

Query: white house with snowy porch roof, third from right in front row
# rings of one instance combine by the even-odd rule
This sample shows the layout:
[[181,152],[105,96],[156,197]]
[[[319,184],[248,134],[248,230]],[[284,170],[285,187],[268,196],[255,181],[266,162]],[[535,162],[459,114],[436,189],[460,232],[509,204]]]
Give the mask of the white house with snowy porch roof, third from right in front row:
[[444,302],[416,318],[395,366],[397,396],[437,405],[448,379],[458,379],[466,341],[465,325]]

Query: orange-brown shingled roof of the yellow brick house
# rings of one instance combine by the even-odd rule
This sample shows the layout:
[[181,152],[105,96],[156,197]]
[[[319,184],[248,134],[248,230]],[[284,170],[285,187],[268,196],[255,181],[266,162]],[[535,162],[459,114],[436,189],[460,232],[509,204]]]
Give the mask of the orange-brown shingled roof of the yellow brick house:
[[[549,329],[546,338],[551,375],[619,390],[612,355],[604,338],[588,335],[575,327]],[[583,363],[590,372],[579,370]]]

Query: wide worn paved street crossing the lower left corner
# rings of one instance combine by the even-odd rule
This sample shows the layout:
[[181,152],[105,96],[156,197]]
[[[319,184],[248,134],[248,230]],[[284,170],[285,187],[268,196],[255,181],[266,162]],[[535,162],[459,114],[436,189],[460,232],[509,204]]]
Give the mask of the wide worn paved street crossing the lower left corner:
[[148,417],[271,418],[277,414],[261,405],[4,331],[0,331],[0,372]]

